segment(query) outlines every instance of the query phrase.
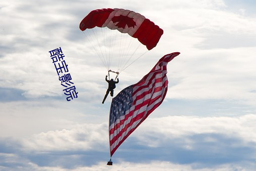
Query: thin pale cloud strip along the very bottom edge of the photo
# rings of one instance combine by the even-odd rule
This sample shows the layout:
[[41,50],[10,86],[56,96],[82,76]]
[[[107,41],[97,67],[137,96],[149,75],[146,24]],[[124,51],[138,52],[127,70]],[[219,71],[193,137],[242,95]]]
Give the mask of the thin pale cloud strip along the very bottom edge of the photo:
[[[1,168],[1,167],[0,167]],[[8,169],[8,167],[2,167],[3,169]],[[113,163],[112,166],[106,165],[106,162],[99,162],[92,166],[80,166],[76,168],[62,168],[60,166],[39,166],[33,162],[28,162],[25,166],[20,166],[19,168],[22,168],[23,170],[53,170],[53,171],[66,171],[66,170],[139,170],[139,171],[145,171],[145,170],[169,170],[172,169],[174,171],[180,171],[180,170],[196,170],[196,171],[210,171],[210,170],[216,170],[216,171],[224,171],[224,170],[241,170],[245,171],[248,169],[252,169],[252,164],[243,164],[243,166],[240,166],[238,164],[223,164],[218,165],[215,167],[204,167],[204,168],[197,168],[197,164],[176,164],[168,161],[151,161],[147,163],[133,163],[133,162],[119,162],[119,163]]]

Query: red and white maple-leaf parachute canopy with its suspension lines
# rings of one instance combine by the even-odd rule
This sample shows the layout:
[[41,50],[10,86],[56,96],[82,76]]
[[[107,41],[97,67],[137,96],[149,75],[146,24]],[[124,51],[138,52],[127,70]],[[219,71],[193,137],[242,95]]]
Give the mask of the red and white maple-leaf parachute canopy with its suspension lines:
[[163,34],[149,19],[124,9],[94,10],[83,18],[79,28],[107,70],[117,74],[154,48]]

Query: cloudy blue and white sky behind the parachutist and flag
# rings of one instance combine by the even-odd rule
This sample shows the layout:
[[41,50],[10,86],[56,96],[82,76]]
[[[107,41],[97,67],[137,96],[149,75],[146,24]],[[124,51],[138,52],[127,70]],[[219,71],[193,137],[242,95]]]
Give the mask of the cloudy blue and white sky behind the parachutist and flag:
[[[115,95],[165,54],[163,103],[108,166],[106,68],[80,21],[122,8],[153,21],[157,46],[120,73]],[[252,0],[0,2],[0,170],[255,170],[256,3]],[[49,51],[61,47],[77,98]]]

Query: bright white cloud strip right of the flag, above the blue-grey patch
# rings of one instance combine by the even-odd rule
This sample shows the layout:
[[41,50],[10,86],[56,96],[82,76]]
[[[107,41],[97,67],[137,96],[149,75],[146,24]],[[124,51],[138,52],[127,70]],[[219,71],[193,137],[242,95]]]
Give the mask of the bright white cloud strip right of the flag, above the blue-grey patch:
[[[189,138],[200,134],[219,134],[229,138],[238,138],[244,144],[256,143],[256,128],[253,123],[256,115],[240,117],[196,117],[196,116],[167,116],[148,118],[132,136],[140,140],[140,144],[159,147],[174,138]],[[152,138],[154,137],[155,138]],[[156,138],[157,137],[157,138]],[[187,137],[187,138],[186,138]],[[206,138],[206,141],[209,139]],[[188,139],[189,140],[189,139]],[[187,145],[191,142],[188,141]]]

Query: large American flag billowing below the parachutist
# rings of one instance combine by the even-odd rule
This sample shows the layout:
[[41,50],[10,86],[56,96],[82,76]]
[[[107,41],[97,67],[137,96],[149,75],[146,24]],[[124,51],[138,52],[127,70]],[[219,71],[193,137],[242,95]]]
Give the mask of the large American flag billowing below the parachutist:
[[163,101],[168,86],[167,63],[179,52],[164,55],[139,82],[122,90],[111,103],[110,155]]

